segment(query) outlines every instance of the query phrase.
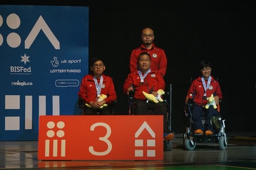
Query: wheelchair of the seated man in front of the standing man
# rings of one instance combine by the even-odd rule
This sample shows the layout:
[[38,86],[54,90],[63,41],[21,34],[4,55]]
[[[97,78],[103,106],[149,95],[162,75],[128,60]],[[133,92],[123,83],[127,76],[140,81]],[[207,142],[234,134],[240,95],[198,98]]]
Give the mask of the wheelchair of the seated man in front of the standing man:
[[[171,86],[170,86],[171,89]],[[135,113],[135,101],[134,101],[134,91],[130,91],[128,95],[128,103],[129,103],[129,114],[134,115]],[[167,125],[168,125],[168,130],[171,131],[171,113],[168,110],[171,110],[171,107],[168,109],[169,102],[171,100],[171,92],[165,92],[163,95],[163,102],[166,106],[166,120],[167,120]],[[168,102],[169,100],[169,102]],[[171,103],[171,102],[170,102]],[[174,141],[166,141],[163,139],[163,147],[164,150],[166,151],[171,151],[172,150],[172,145]]]

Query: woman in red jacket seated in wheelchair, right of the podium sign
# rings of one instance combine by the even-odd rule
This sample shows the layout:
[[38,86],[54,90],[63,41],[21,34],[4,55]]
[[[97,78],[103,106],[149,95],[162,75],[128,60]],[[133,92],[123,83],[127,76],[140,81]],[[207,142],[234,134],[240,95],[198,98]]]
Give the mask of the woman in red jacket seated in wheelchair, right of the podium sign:
[[[212,125],[210,125],[210,119],[213,116],[217,116],[217,109],[210,106],[208,109],[205,108],[207,105],[207,98],[212,94],[214,96],[215,104],[218,105],[219,100],[222,99],[222,93],[220,84],[211,75],[212,67],[209,61],[201,61],[199,64],[201,76],[193,80],[186,97],[186,103],[191,98],[195,104],[192,109],[192,120],[195,128],[195,134],[212,135],[214,133]],[[207,120],[203,125],[200,114],[204,112]]]

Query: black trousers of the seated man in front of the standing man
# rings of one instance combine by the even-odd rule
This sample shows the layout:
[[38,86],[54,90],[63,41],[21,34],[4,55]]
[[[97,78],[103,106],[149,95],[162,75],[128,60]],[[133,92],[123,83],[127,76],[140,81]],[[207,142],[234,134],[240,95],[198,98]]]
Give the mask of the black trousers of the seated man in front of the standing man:
[[163,115],[164,133],[169,133],[167,123],[167,108],[164,102],[152,103],[147,100],[135,99],[135,115]]

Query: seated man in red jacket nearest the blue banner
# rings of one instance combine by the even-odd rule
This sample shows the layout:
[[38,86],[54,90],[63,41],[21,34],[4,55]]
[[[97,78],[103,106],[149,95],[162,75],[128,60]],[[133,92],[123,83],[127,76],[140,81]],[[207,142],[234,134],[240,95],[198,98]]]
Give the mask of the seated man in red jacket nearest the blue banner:
[[[117,94],[112,78],[103,74],[105,69],[106,66],[102,59],[92,58],[90,66],[92,74],[85,75],[82,78],[78,95],[86,104],[86,106],[84,105],[84,113],[86,115],[112,114],[108,105],[117,99]],[[101,95],[106,95],[106,98],[99,100]]]

